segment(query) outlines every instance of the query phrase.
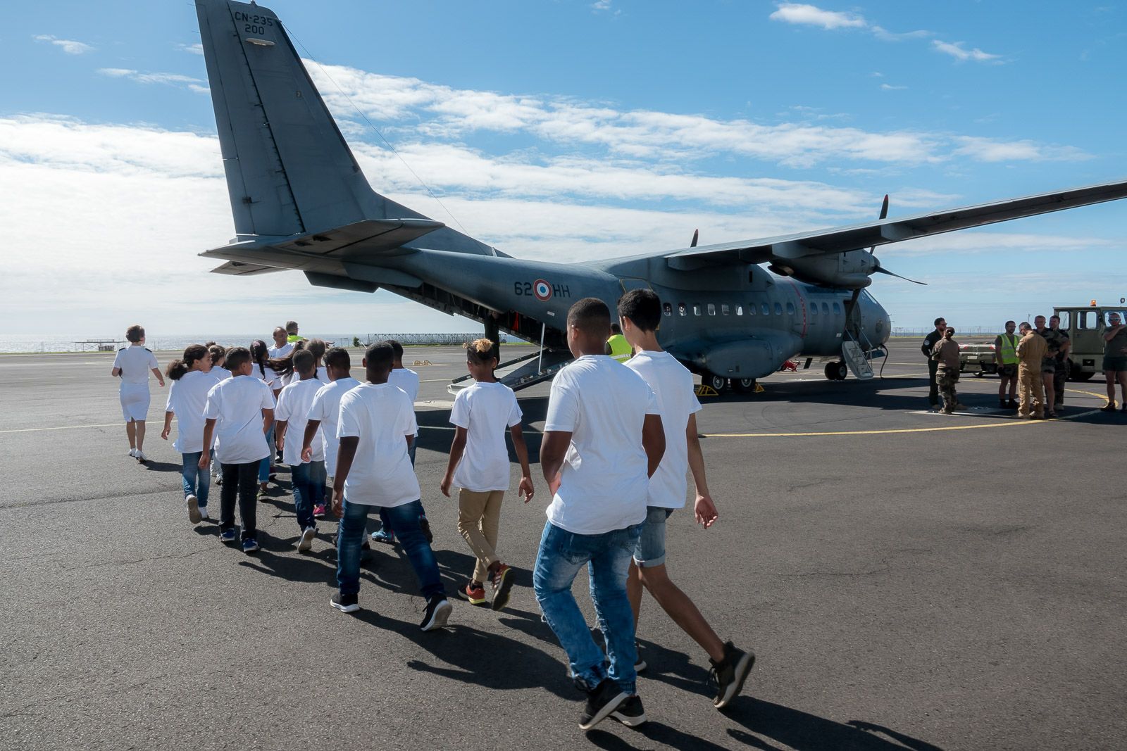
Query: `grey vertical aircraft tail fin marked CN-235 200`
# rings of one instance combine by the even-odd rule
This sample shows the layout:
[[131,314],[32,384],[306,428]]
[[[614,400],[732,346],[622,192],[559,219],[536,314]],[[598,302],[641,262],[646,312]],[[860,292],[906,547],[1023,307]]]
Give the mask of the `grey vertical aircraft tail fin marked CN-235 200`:
[[[369,186],[274,11],[196,0],[196,15],[238,234],[427,218]],[[438,250],[496,254],[449,227],[427,240]]]

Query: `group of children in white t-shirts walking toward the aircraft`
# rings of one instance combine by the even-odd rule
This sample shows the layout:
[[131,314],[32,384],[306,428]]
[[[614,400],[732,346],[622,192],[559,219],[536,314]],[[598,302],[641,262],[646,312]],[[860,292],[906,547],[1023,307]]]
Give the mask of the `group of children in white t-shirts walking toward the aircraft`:
[[[686,472],[695,485],[696,521],[708,528],[717,519],[696,436],[700,403],[691,374],[657,343],[657,295],[632,290],[618,309],[622,336],[636,352],[625,365],[603,354],[611,332],[607,306],[596,298],[571,306],[567,341],[576,359],[552,383],[540,452],[551,502],[533,589],[543,619],[568,654],[576,686],[586,692],[579,718],[584,730],[606,717],[630,726],[646,721],[636,683],[637,672],[647,665],[635,641],[644,590],[709,655],[718,708],[740,691],[755,661],[751,652],[722,642],[666,572],[666,519],[685,503]],[[378,509],[382,528],[372,537],[398,539],[426,599],[420,628],[441,628],[453,608],[414,471],[417,374],[402,367],[398,342],[376,342],[364,352],[362,383],[350,376],[347,350],[326,351],[317,340],[279,341],[293,334],[295,324],[292,334],[275,332],[275,348],[255,342],[250,349],[227,350],[229,377],[215,373],[213,354],[201,345],[185,349],[183,359],[169,366],[172,388],[162,437],[175,414],[179,435],[174,447],[184,458],[189,520],[208,518],[207,468],[214,454],[222,465],[221,539],[236,540],[238,500],[242,549],[258,549],[256,485],[265,482],[264,467],[269,472],[273,433],[292,472],[298,549],[310,549],[319,511],[330,509],[339,518],[338,588],[331,606],[344,613],[360,609],[366,520]],[[474,605],[489,600],[499,610],[513,587],[512,570],[496,549],[509,488],[506,429],[521,465],[517,492],[525,503],[535,488],[522,412],[513,391],[494,376],[495,352],[488,339],[467,346],[474,383],[459,392],[451,411],[455,432],[440,490],[450,497],[458,489],[458,530],[476,558],[459,594]],[[592,638],[571,593],[584,565],[605,652]]]

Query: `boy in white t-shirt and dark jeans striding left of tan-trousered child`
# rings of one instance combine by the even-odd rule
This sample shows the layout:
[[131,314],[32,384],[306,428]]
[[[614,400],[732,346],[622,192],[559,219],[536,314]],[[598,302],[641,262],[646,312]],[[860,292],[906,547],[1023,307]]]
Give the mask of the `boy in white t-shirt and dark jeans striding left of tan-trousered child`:
[[446,625],[452,606],[446,599],[434,551],[419,527],[419,483],[407,457],[415,440],[415,408],[400,388],[388,383],[391,345],[381,341],[364,352],[367,383],[340,397],[340,446],[334,471],[332,510],[337,528],[337,584],[332,607],[344,613],[360,609],[360,556],[367,515],[372,507],[387,509],[399,534],[403,553],[419,579],[426,613],[419,627]]

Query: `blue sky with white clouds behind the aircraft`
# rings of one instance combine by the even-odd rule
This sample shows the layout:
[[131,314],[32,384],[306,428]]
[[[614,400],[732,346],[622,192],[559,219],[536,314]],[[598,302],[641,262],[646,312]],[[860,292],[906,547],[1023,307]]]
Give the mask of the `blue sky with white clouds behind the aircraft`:
[[[1127,178],[1127,9],[1059,2],[298,2],[373,187],[529,258],[726,242]],[[387,293],[232,279],[195,8],[5,11],[11,333],[472,330]],[[356,114],[396,144],[446,211]],[[894,325],[1127,295],[1127,203],[887,247]],[[238,321],[232,324],[231,321]]]

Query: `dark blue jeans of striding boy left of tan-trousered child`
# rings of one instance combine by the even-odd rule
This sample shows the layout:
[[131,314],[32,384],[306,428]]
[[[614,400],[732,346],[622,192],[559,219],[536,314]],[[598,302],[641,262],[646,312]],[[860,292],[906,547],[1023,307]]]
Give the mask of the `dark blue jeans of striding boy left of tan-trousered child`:
[[[367,515],[373,508],[376,507],[349,503],[347,498],[344,500],[344,516],[340,517],[340,525],[337,527],[337,585],[340,588],[340,594],[355,594],[360,591],[361,545],[364,542]],[[399,535],[403,553],[407,554],[407,560],[418,576],[423,597],[429,600],[435,594],[444,596],[445,590],[438,575],[438,562],[435,561],[434,551],[431,549],[419,527],[423,504],[411,501],[390,509],[381,508],[381,511],[387,511],[396,534]],[[627,613],[629,611],[628,605]]]

